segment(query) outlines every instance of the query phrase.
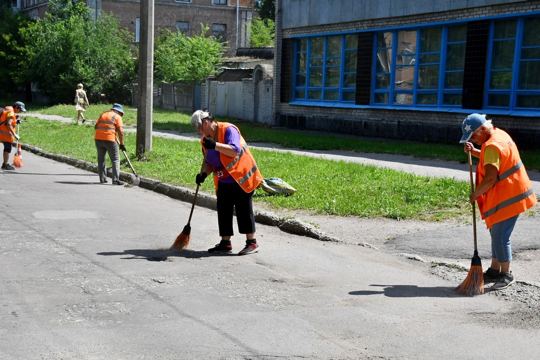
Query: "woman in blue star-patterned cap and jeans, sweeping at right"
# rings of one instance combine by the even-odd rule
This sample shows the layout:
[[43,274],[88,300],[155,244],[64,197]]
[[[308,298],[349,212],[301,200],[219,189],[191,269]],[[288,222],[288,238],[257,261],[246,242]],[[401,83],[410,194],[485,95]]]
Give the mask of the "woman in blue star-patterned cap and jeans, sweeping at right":
[[491,265],[484,272],[484,282],[494,282],[494,290],[506,289],[516,282],[510,271],[510,235],[519,214],[536,205],[536,195],[510,135],[480,114],[467,116],[462,131],[464,151],[480,158],[469,202],[478,203],[491,236]]

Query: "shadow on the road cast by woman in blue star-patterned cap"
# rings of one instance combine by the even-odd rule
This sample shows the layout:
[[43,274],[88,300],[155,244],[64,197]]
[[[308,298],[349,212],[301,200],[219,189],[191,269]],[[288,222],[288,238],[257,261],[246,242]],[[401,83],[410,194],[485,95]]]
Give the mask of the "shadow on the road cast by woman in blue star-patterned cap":
[[349,295],[377,295],[384,294],[388,297],[462,297],[456,294],[454,287],[434,286],[433,288],[422,288],[416,285],[369,285],[384,288],[381,291],[360,290],[350,291]]

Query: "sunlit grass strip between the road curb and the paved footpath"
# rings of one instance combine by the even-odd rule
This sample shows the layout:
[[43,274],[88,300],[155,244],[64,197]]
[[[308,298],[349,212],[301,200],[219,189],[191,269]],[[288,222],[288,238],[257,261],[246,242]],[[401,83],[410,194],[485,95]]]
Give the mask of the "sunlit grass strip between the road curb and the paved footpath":
[[[96,162],[92,126],[75,126],[28,118],[23,141],[45,151]],[[200,169],[200,146],[193,141],[154,137],[146,161],[136,161],[136,134],[126,132],[128,156],[137,173],[172,185],[194,188]],[[467,182],[427,178],[390,169],[335,162],[289,152],[252,149],[262,175],[280,177],[298,191],[272,196],[258,189],[255,202],[274,208],[302,209],[316,214],[443,221],[468,217]],[[123,158],[123,156],[121,155]],[[130,172],[123,159],[122,169]],[[213,193],[209,178],[201,189]]]

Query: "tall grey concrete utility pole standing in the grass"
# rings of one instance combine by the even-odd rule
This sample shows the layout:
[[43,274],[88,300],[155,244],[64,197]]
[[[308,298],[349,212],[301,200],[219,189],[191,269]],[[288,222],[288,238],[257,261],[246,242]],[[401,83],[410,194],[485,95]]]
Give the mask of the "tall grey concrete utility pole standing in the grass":
[[140,1],[139,93],[137,109],[137,157],[152,150],[154,68],[154,0]]

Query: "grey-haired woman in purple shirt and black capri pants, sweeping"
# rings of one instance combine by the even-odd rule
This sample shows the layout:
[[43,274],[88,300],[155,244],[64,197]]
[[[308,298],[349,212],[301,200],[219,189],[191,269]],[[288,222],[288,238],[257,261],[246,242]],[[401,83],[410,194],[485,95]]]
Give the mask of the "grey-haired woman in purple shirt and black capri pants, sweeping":
[[253,194],[262,182],[257,163],[248,149],[237,126],[217,122],[210,112],[197,110],[191,116],[191,125],[203,135],[201,146],[206,153],[203,171],[195,183],[203,183],[211,172],[217,196],[218,226],[221,241],[208,252],[232,252],[233,214],[236,210],[238,231],[246,234],[246,245],[238,255],[247,255],[260,249],[255,238]]

